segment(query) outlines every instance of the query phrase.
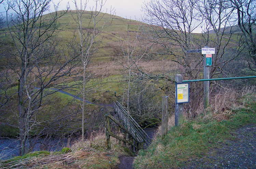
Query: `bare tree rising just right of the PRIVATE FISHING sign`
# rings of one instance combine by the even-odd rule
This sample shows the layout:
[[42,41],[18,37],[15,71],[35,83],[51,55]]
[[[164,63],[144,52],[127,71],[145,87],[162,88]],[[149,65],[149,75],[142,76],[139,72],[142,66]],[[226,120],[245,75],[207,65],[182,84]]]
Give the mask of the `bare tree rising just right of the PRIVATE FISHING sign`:
[[[236,60],[239,53],[232,46],[237,45],[233,40],[234,14],[230,1],[202,0],[197,1],[197,7],[205,21],[204,34],[202,34],[205,46],[215,48],[213,63],[210,69],[210,78],[224,73],[223,67]],[[227,57],[232,55],[232,57]],[[222,74],[223,75],[223,74]]]

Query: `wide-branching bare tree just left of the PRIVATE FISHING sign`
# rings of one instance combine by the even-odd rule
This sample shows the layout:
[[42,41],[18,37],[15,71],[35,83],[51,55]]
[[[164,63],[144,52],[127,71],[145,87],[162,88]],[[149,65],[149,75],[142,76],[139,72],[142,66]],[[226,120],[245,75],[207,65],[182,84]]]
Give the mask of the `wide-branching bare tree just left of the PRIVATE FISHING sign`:
[[[200,34],[193,31],[200,29],[202,23],[200,11],[194,0],[161,0],[150,1],[143,7],[151,29],[148,30],[148,39],[154,43],[152,55],[155,57],[170,58],[176,63],[175,70],[164,73],[165,80],[174,83],[174,72],[179,72],[185,79],[198,79],[203,68],[203,56],[200,53],[187,53],[187,50],[201,49],[205,41]],[[171,76],[171,77],[170,77]],[[193,105],[187,108],[188,115],[194,116],[191,109],[198,106],[202,85],[190,85],[190,101]],[[173,91],[166,90],[167,95]],[[195,94],[196,93],[196,94]],[[174,96],[174,95],[173,95]]]

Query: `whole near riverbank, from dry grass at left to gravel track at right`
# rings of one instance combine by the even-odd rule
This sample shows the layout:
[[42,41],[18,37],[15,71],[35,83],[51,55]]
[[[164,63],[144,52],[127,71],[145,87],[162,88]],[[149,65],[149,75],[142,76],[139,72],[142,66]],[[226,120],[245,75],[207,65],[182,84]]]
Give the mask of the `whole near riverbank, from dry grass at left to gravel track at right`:
[[[219,94],[226,103],[215,107],[215,102],[195,120],[173,127],[174,118],[170,117],[167,136],[161,141],[159,130],[150,147],[138,152],[134,168],[255,168],[255,88],[241,90],[235,99],[228,93]],[[97,137],[76,142],[60,152],[37,151],[0,161],[0,167],[116,169],[120,156],[134,155],[113,138],[113,148],[107,151],[104,141],[104,133],[98,133]]]

